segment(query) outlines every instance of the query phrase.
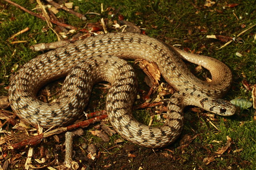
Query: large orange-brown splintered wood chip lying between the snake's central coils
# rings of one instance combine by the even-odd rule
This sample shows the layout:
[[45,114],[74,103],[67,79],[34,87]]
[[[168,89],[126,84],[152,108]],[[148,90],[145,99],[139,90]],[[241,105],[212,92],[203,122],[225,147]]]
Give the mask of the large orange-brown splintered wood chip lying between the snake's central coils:
[[152,86],[159,84],[158,81],[160,80],[161,74],[156,63],[149,63],[148,61],[142,59],[139,61],[139,66],[142,71],[147,74]]

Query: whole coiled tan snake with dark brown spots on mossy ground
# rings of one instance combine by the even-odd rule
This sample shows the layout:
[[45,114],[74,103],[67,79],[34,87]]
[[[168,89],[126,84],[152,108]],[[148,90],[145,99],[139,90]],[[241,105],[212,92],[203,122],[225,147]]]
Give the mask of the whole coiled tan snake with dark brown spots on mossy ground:
[[[177,92],[167,106],[164,125],[151,127],[132,115],[138,80],[125,60],[144,59],[157,64],[162,77]],[[183,60],[208,69],[212,81],[200,80]],[[36,97],[48,82],[65,77],[59,98],[44,103]],[[212,113],[230,116],[236,107],[220,99],[230,89],[231,70],[217,59],[169,47],[138,33],[107,33],[87,37],[48,51],[24,64],[10,82],[9,102],[14,113],[27,123],[44,128],[68,125],[88,104],[94,84],[106,81],[108,119],[126,140],[148,148],[170,145],[184,125],[184,107],[194,105]]]

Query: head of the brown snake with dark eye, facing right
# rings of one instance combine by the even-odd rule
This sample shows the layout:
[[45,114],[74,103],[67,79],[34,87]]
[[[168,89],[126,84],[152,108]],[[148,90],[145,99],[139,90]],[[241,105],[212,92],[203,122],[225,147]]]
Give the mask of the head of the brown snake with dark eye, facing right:
[[236,113],[236,106],[223,99],[212,99],[209,101],[209,105],[207,107],[207,111],[218,115],[232,116]]

